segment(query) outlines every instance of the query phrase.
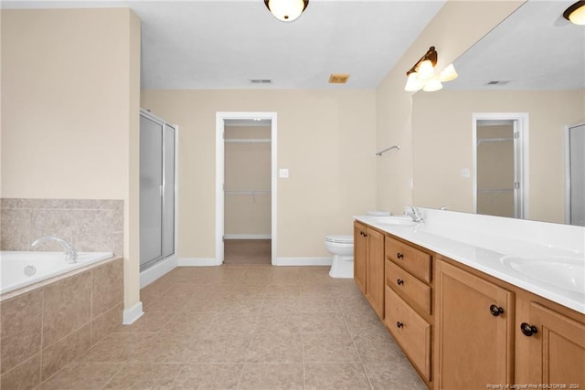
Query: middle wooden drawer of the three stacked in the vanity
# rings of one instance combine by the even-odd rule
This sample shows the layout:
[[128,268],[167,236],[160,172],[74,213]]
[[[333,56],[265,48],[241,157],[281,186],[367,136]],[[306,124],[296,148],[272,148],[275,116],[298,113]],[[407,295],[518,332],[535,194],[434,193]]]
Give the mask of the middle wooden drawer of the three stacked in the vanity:
[[400,297],[413,303],[421,312],[431,314],[431,287],[388,259],[386,285],[398,292]]

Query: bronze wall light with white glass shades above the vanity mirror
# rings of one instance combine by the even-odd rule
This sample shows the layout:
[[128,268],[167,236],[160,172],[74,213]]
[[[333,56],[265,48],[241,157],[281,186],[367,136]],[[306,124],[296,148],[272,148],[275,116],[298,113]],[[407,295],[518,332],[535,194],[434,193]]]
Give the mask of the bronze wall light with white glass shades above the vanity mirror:
[[457,72],[453,64],[449,64],[439,75],[435,73],[436,65],[437,50],[435,50],[434,46],[431,46],[425,55],[406,72],[408,79],[406,80],[404,90],[407,92],[416,92],[417,90],[432,92],[441,90],[441,82],[457,79]]

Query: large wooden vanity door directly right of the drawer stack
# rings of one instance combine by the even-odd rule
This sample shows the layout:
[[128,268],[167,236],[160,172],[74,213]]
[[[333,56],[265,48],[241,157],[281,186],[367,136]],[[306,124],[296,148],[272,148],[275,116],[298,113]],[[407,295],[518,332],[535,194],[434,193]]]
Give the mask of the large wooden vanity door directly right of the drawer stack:
[[513,384],[514,294],[441,259],[435,271],[436,387]]

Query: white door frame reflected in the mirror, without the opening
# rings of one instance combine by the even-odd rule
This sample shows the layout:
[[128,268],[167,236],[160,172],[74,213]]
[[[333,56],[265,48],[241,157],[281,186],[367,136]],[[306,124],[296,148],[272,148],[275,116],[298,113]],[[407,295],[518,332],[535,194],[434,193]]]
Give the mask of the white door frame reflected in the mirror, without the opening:
[[[515,132],[518,133],[516,142],[519,145],[515,148],[515,168],[517,179],[520,183],[520,203],[517,217],[522,219],[528,218],[528,199],[529,199],[529,159],[528,159],[528,113],[527,112],[473,112],[473,132],[472,132],[472,192],[473,192],[473,213],[477,213],[477,121],[516,121]],[[515,196],[516,199],[516,196]],[[516,201],[516,200],[515,200]],[[516,211],[515,211],[516,214]]]

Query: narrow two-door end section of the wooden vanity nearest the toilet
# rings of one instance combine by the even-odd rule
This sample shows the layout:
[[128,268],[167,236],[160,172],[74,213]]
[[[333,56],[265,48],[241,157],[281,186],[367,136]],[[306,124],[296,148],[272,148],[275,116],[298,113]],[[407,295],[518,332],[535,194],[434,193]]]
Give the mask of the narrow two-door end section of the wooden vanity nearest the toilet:
[[354,279],[367,301],[384,318],[384,233],[354,225]]

